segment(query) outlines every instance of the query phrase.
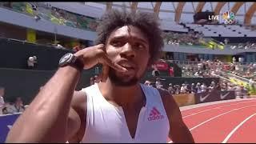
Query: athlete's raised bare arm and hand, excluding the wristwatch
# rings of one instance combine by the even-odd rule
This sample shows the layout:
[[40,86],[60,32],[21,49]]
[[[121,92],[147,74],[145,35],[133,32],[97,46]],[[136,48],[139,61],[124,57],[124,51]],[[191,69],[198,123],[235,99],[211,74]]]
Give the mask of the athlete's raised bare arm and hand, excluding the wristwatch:
[[[102,62],[103,69],[112,66],[116,70],[124,70],[107,58],[102,46],[88,47],[74,55],[82,59],[85,69]],[[103,72],[104,79],[107,72]],[[80,75],[81,72],[73,66],[59,68],[14,122],[6,142],[66,142],[73,137],[73,133],[79,130],[81,119],[79,112],[73,107],[70,109],[70,105]]]

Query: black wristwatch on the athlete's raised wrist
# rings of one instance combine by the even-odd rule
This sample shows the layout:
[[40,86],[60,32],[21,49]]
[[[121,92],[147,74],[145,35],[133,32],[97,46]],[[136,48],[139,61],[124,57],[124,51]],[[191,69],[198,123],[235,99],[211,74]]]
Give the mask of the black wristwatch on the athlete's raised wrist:
[[78,57],[74,56],[72,53],[67,53],[62,56],[62,58],[58,62],[58,66],[63,67],[63,66],[73,66],[79,71],[83,70],[84,64],[81,59]]

